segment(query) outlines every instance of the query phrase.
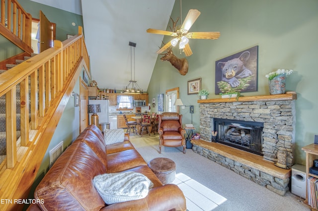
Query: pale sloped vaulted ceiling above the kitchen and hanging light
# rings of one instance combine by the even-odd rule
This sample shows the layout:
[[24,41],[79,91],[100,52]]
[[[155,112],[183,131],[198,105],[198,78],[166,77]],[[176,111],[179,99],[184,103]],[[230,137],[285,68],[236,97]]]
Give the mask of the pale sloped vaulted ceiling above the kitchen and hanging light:
[[147,91],[163,36],[146,30],[166,29],[174,0],[33,1],[82,15],[92,79],[99,88],[121,90],[133,79]]

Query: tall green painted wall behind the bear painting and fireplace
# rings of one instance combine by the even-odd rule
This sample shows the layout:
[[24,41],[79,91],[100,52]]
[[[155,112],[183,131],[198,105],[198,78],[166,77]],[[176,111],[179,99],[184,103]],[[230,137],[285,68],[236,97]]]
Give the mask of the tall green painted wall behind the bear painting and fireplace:
[[[199,104],[197,95],[187,95],[187,81],[202,78],[202,88],[210,92],[209,99],[220,98],[215,91],[215,61],[258,46],[258,91],[242,93],[244,96],[269,95],[265,77],[279,68],[293,69],[287,78],[287,91],[296,91],[296,143],[295,162],[305,165],[301,148],[314,142],[318,134],[318,1],[317,0],[183,0],[182,20],[189,9],[198,9],[201,15],[191,27],[195,31],[219,31],[218,40],[190,40],[193,54],[187,57],[189,72],[182,76],[167,61],[158,56],[150,81],[149,99],[156,99],[165,90],[179,87],[184,105],[194,105],[193,124],[199,130]],[[175,1],[171,17],[180,15],[179,1]],[[167,27],[169,30],[169,27]],[[155,36],[155,35],[154,35]],[[165,36],[164,42],[171,37]],[[175,48],[173,51],[178,57]],[[191,122],[188,107],[181,109],[183,123]]]

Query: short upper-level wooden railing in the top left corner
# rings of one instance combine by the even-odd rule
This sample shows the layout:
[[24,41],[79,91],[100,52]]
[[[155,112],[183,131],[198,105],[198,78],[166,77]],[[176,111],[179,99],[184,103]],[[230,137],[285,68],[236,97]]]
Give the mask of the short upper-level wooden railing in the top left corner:
[[0,9],[1,34],[24,52],[33,53],[31,48],[32,16],[17,0],[1,0]]

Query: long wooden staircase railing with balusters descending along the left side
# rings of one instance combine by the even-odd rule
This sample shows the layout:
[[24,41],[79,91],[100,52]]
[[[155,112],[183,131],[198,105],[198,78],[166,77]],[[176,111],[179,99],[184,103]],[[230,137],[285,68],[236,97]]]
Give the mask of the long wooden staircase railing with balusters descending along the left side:
[[[50,140],[82,69],[89,74],[89,57],[82,28],[0,77],[0,96],[6,98],[6,163],[0,164],[0,199],[26,199]],[[29,87],[30,81],[30,87]],[[16,86],[20,84],[21,147],[16,147]],[[30,96],[29,96],[30,88]],[[30,105],[30,108],[29,108]],[[29,123],[29,110],[30,119]],[[30,135],[32,131],[32,138]],[[21,204],[2,204],[20,210]],[[23,206],[23,205],[22,205]]]

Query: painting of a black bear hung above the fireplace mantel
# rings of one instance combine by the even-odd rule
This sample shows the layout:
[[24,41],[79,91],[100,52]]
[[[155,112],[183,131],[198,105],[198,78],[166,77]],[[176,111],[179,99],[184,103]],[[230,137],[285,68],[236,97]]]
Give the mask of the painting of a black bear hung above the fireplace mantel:
[[258,46],[215,62],[215,94],[257,91]]

